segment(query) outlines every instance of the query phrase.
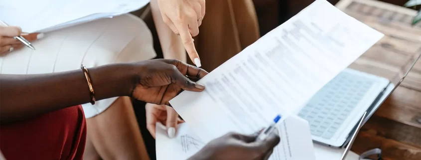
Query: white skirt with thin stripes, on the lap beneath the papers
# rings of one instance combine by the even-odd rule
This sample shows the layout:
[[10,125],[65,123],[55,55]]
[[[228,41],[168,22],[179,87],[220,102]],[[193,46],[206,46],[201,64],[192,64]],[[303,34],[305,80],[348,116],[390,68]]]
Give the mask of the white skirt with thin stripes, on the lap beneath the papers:
[[45,33],[32,42],[36,50],[23,47],[0,56],[0,74],[43,74],[80,69],[81,64],[95,67],[151,59],[156,56],[152,41],[141,36],[148,33],[147,26],[137,20],[124,14]]

